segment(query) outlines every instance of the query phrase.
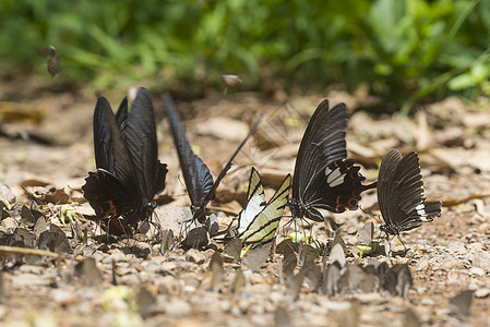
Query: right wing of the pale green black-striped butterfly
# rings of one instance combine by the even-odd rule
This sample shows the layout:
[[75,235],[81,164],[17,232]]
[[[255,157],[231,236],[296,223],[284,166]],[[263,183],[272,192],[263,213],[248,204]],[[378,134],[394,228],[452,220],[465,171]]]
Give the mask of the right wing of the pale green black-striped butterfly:
[[284,208],[287,205],[291,177],[288,174],[263,210],[255,216],[247,230],[239,235],[243,243],[265,243],[274,238],[283,217]]

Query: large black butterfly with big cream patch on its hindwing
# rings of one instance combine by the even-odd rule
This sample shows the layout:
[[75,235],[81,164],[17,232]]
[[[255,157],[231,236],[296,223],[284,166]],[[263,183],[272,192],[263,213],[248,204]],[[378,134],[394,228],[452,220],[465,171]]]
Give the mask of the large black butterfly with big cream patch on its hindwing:
[[296,158],[288,203],[292,218],[323,221],[315,208],[333,213],[357,209],[360,193],[377,186],[362,185],[360,167],[347,159],[346,130],[346,106],[339,104],[328,110],[328,101],[323,100],[308,123]]

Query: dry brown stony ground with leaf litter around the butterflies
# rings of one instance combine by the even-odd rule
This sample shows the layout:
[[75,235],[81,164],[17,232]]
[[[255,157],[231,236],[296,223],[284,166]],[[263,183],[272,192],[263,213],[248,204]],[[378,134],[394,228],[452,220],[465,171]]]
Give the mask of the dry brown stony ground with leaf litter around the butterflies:
[[[234,259],[218,240],[212,240],[203,250],[179,246],[177,221],[186,214],[189,198],[156,93],[159,159],[169,168],[156,213],[164,229],[175,230],[176,243],[165,251],[155,234],[106,237],[99,226],[80,214],[92,211],[81,186],[88,171],[95,169],[92,114],[96,96],[81,94],[75,86],[62,83],[34,78],[1,82],[0,194],[13,207],[3,208],[0,243],[34,250],[43,243],[49,253],[27,255],[2,247],[0,325],[490,325],[488,105],[447,98],[420,108],[410,118],[351,111],[347,147],[349,157],[362,166],[367,182],[377,180],[378,165],[390,148],[404,154],[417,150],[426,194],[429,199],[443,202],[442,216],[402,235],[406,253],[395,239],[391,241],[390,257],[361,257],[355,247],[359,243],[358,230],[369,221],[378,229],[382,219],[375,191],[366,192],[362,210],[325,213],[326,222],[306,227],[306,233],[326,249],[312,259],[312,270],[320,275],[306,276],[306,247],[297,244],[292,246],[297,265],[286,263],[286,254],[270,250],[259,267],[250,259]],[[124,95],[106,96],[117,108]],[[349,109],[370,101],[333,90],[282,101],[232,89],[199,99],[176,99],[190,143],[214,175],[247,134],[252,120],[259,112],[266,112],[253,140],[224,179],[217,201],[210,206],[222,229],[241,209],[251,167],[263,174],[267,198],[273,187],[292,172],[308,119],[323,98],[331,104],[344,101]],[[286,209],[287,215],[290,213]],[[291,228],[280,230],[290,232]],[[52,232],[51,239],[43,241],[40,234],[46,230]],[[64,237],[57,239],[53,235],[60,230]],[[328,249],[334,235],[345,242],[344,270],[355,265],[375,268],[381,263],[389,267],[407,264],[411,282],[398,280],[402,288],[410,287],[402,294],[405,296],[384,290],[374,272],[367,278],[370,281],[359,281],[367,276],[361,274],[359,280],[350,280],[338,292],[332,292],[326,277],[319,281],[327,275],[323,270],[332,255]]]

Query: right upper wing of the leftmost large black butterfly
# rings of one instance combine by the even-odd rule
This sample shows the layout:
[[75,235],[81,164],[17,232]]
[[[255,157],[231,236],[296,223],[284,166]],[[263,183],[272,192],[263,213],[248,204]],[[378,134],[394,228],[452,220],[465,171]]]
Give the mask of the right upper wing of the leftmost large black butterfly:
[[146,206],[153,202],[156,192],[164,187],[167,168],[158,161],[152,97],[143,87],[139,89],[131,110],[123,120],[122,134],[133,162],[136,187],[142,204]]

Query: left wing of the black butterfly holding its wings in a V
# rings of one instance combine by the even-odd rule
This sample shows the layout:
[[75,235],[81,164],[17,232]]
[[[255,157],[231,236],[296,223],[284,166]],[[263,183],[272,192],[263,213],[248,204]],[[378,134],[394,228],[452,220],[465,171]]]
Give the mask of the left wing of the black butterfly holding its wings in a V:
[[207,166],[192,152],[192,148],[186,138],[179,113],[174,106],[170,95],[164,94],[162,99],[164,100],[167,110],[167,118],[170,123],[189,197],[191,198],[193,207],[203,208],[206,205],[206,194],[213,189],[213,177],[211,175]]

